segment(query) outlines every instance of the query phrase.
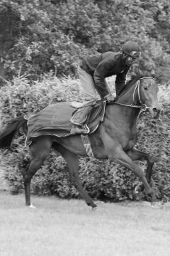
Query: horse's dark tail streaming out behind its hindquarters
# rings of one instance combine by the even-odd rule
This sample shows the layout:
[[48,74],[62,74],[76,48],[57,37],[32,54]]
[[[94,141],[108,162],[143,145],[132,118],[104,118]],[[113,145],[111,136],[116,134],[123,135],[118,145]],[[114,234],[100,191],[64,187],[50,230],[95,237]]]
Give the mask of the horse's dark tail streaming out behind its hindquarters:
[[0,149],[6,149],[11,146],[16,130],[20,127],[26,130],[27,120],[24,117],[16,117],[5,127],[4,132],[0,134]]

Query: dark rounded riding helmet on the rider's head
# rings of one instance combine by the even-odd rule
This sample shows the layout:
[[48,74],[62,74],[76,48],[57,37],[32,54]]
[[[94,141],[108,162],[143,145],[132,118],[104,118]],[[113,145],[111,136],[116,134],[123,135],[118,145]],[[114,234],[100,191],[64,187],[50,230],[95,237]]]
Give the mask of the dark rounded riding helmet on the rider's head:
[[132,58],[140,57],[140,47],[136,42],[128,41],[123,44],[122,52],[129,55]]

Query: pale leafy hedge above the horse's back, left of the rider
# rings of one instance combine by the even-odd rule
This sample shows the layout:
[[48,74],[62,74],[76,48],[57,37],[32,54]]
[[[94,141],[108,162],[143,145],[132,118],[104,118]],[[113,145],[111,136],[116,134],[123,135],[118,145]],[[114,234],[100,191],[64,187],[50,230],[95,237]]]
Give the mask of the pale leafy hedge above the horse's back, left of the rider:
[[38,112],[52,102],[75,100],[78,92],[77,80],[70,80],[68,84],[66,79],[59,80],[52,73],[41,81],[31,83],[25,77],[13,78],[13,82],[8,82],[0,90],[1,122],[21,114]]

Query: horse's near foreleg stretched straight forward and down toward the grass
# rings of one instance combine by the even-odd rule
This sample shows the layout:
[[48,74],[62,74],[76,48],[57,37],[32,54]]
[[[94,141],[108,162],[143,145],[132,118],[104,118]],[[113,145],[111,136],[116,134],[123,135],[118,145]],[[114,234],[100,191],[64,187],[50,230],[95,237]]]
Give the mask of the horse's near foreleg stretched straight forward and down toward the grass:
[[141,178],[147,194],[152,197],[152,202],[157,201],[157,198],[154,195],[154,191],[149,186],[149,183],[147,181],[147,178],[145,177],[144,172],[142,171],[142,168],[138,164],[135,164],[132,159],[130,159],[130,156],[128,156],[128,154],[125,154],[122,149],[117,149],[113,156],[109,156],[109,159],[111,159],[111,161],[116,161],[119,164],[122,164],[123,166],[132,170],[138,177]]

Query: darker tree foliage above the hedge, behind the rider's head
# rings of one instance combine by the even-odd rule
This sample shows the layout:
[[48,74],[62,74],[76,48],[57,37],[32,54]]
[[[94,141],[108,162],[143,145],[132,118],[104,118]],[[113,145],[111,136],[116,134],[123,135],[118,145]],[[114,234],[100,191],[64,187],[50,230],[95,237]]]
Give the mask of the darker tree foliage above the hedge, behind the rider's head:
[[[142,58],[133,72],[154,72],[159,81],[167,82],[169,1],[108,0],[104,6],[94,0],[1,1],[0,22],[4,15],[15,21],[10,22],[11,43],[1,58],[6,79],[13,75],[37,79],[50,70],[57,76],[75,76],[85,55],[118,51],[125,41],[135,40]],[[5,38],[4,33],[1,36]]]

